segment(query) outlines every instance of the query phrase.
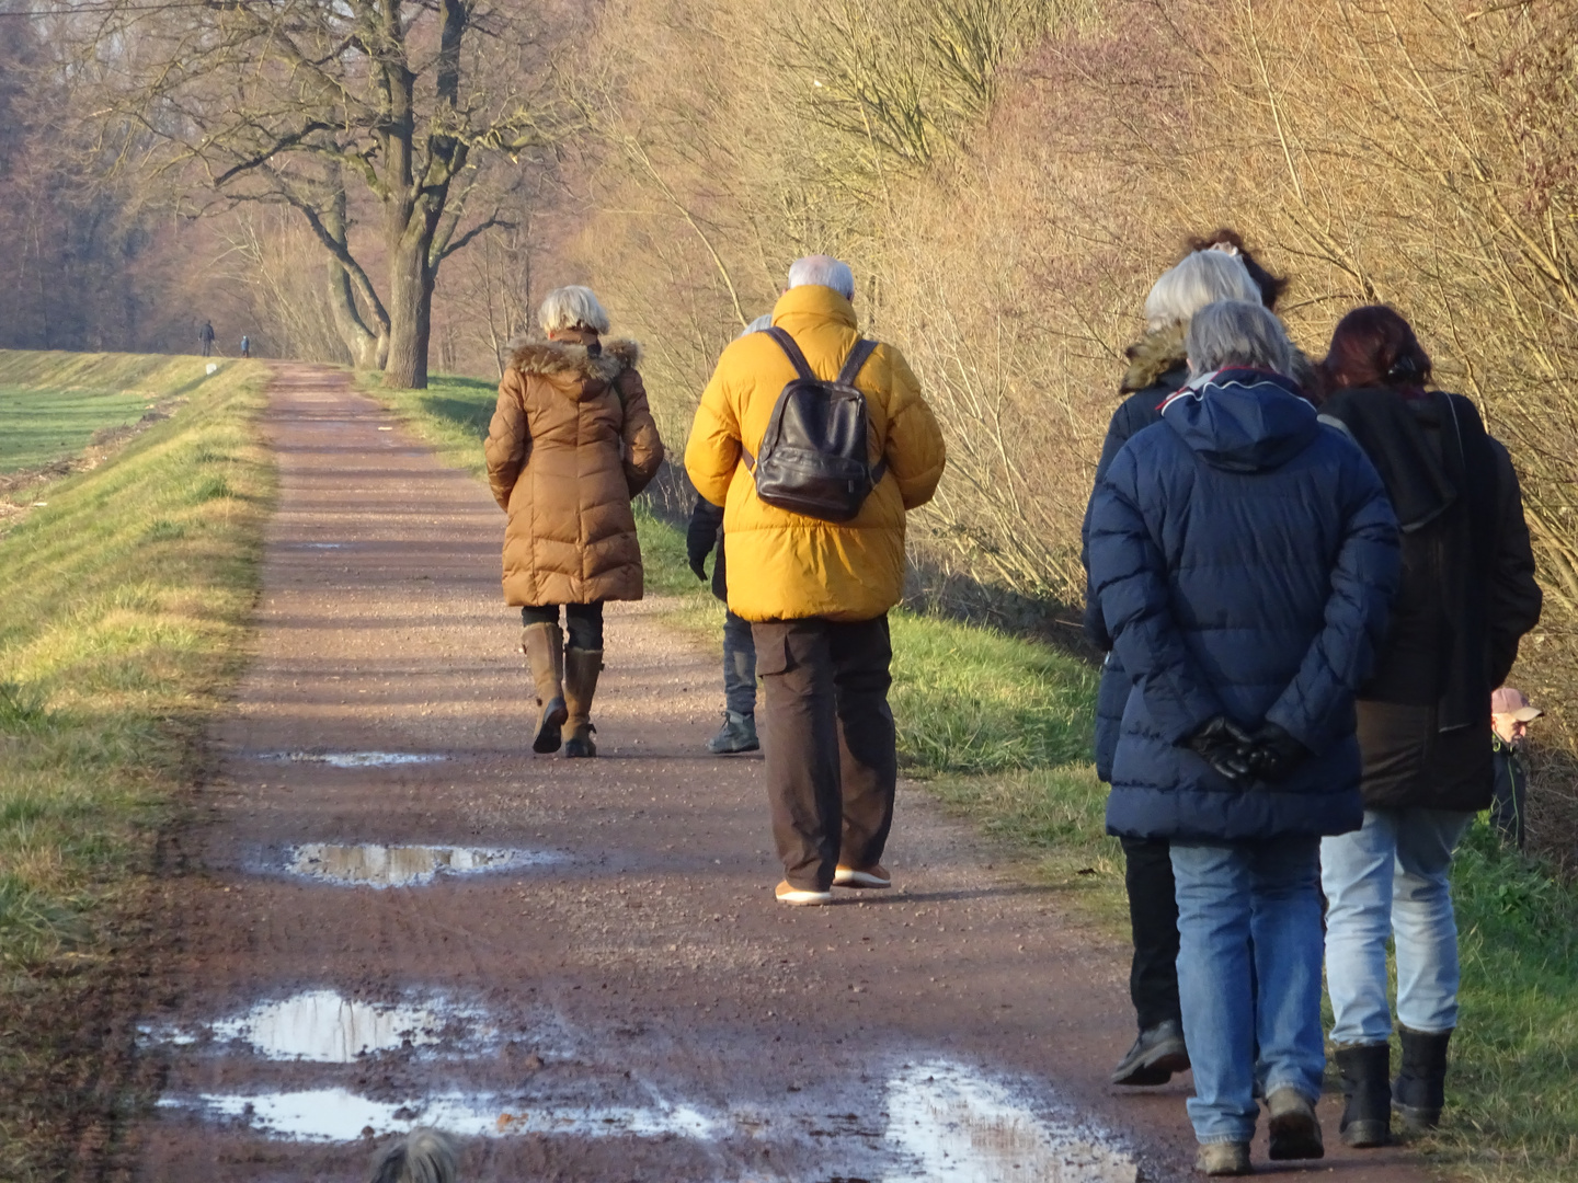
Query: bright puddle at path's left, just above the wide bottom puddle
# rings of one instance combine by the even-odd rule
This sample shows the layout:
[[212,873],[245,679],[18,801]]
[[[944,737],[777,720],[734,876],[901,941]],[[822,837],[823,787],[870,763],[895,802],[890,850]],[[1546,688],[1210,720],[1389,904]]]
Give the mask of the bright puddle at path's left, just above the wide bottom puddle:
[[241,1044],[267,1060],[355,1063],[398,1049],[472,1051],[494,1035],[481,1013],[443,998],[377,1003],[335,991],[260,1002],[200,1028],[145,1028],[147,1043]]

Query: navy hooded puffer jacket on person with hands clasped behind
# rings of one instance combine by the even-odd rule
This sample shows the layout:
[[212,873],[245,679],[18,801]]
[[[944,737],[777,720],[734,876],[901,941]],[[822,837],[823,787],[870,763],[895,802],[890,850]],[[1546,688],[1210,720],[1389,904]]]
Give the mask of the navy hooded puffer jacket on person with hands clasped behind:
[[[1097,494],[1090,538],[1097,593],[1108,628],[1125,634],[1117,653],[1136,683],[1109,825],[1223,839],[1319,833],[1307,828],[1322,817],[1359,825],[1351,691],[1335,691],[1362,655],[1311,661],[1310,645],[1327,625],[1333,582],[1371,609],[1359,623],[1379,642],[1390,588],[1376,565],[1395,563],[1392,539],[1368,461],[1277,375],[1210,375],[1125,446]],[[1177,647],[1172,656],[1196,678],[1163,688],[1160,659]],[[1289,782],[1231,789],[1177,746],[1218,713],[1269,718],[1318,757]]]

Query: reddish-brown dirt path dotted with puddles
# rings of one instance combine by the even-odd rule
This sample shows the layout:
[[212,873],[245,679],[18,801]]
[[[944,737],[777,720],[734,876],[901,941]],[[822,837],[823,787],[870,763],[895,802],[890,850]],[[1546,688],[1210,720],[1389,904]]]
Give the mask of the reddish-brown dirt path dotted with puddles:
[[281,368],[267,429],[259,651],[177,836],[133,1178],[358,1180],[413,1121],[466,1180],[1185,1174],[1187,1080],[1106,1087],[1122,951],[1056,893],[904,792],[898,890],[775,905],[761,765],[702,752],[710,651],[611,610],[604,756],[533,757],[488,494],[342,377]]

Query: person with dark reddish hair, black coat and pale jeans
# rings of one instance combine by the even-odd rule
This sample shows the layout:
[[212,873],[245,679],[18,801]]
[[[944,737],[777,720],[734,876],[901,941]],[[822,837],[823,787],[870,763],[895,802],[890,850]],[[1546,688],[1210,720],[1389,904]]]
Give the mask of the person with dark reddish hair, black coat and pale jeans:
[[[1430,356],[1409,323],[1390,308],[1354,309],[1322,369],[1322,418],[1374,462],[1403,530],[1392,633],[1359,696],[1363,828],[1321,847],[1343,1140],[1373,1147],[1389,1140],[1393,1109],[1411,1129],[1441,1118],[1458,1016],[1447,872],[1491,803],[1485,702],[1540,618],[1540,588],[1507,450],[1472,402],[1430,390]],[[1389,937],[1403,1043],[1390,1084]]]

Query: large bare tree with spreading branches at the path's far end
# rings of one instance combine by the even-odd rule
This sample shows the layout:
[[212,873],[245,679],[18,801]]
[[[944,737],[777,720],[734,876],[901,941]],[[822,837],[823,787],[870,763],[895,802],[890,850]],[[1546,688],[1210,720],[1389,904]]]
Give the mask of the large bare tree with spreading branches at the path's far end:
[[[439,268],[505,221],[478,164],[546,142],[535,9],[103,0],[74,33],[123,164],[191,185],[200,211],[289,205],[325,252],[352,356],[391,386],[426,386]],[[363,207],[382,215],[371,249],[355,233]]]

